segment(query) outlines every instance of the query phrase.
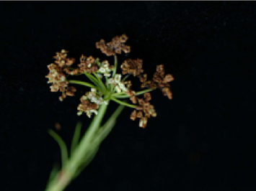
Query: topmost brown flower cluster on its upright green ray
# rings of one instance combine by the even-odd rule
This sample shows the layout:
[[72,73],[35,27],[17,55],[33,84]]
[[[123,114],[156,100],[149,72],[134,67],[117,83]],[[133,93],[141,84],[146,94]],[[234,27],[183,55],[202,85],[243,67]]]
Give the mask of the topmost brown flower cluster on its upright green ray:
[[115,54],[121,54],[122,51],[125,53],[129,53],[131,50],[131,47],[128,45],[125,45],[124,43],[127,41],[128,37],[123,34],[120,37],[116,36],[112,38],[111,42],[107,42],[107,45],[105,43],[104,39],[101,39],[100,42],[96,42],[97,49],[100,49],[102,53],[104,53],[107,56],[115,55]]

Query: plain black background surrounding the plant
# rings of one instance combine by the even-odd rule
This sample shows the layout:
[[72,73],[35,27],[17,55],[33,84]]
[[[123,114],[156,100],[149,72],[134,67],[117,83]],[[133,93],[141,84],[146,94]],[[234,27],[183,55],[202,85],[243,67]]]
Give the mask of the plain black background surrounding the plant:
[[[256,190],[255,2],[1,2],[1,190],[44,190],[58,145],[71,143],[79,96],[58,101],[45,75],[69,50],[106,59],[95,42],[127,34],[146,73],[164,64],[173,100],[152,93],[146,129],[131,109],[66,190]],[[127,58],[128,58],[127,57]],[[122,60],[125,57],[120,57]],[[112,62],[112,57],[110,57]],[[80,94],[79,94],[80,93]],[[116,105],[110,106],[108,114]]]

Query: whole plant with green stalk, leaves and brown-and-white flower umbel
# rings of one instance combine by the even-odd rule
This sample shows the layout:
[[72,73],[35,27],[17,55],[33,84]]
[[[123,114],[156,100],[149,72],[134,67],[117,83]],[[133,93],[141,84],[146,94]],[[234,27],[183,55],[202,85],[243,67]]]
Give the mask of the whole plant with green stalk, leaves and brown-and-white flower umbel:
[[[62,167],[60,171],[53,169],[46,188],[47,191],[64,190],[71,180],[79,175],[84,167],[87,167],[125,106],[133,109],[131,120],[135,121],[138,118],[138,126],[145,129],[149,118],[156,117],[155,108],[150,103],[151,93],[149,92],[159,88],[167,98],[172,99],[169,83],[174,78],[170,74],[165,75],[164,65],[156,65],[156,72],[151,80],[147,80],[148,76],[144,73],[143,60],[139,58],[123,60],[122,64],[118,65],[117,55],[122,52],[129,53],[131,50],[130,46],[125,45],[127,40],[126,34],[122,34],[112,38],[111,42],[106,43],[105,39],[96,42],[97,49],[107,56],[113,56],[114,62],[81,55],[79,63],[74,66],[75,59],[67,57],[68,51],[61,50],[61,52],[56,52],[53,57],[54,63],[48,65],[49,73],[45,78],[48,78],[48,83],[51,84],[50,91],[60,91],[62,94],[59,100],[63,101],[67,96],[74,96],[76,92],[76,88],[70,84],[85,86],[87,89],[80,98],[77,115],[81,116],[85,113],[87,117],[93,116],[93,118],[80,141],[81,124],[76,126],[70,155],[61,137],[54,131],[49,131],[61,148]],[[76,75],[85,77],[85,80],[70,79]],[[133,90],[132,81],[128,80],[130,77],[138,78],[143,89]],[[105,124],[102,124],[107,106],[112,101],[120,106]]]

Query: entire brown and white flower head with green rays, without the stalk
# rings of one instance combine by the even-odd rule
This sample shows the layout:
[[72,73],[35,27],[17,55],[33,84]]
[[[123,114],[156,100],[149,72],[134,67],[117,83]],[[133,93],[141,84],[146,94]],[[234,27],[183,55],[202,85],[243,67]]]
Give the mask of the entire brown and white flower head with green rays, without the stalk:
[[[76,92],[76,88],[69,87],[69,83],[85,85],[91,88],[91,90],[80,98],[81,103],[77,107],[77,114],[79,116],[82,113],[86,113],[88,117],[91,117],[92,113],[97,115],[98,108],[112,100],[124,106],[134,108],[135,110],[131,113],[131,119],[134,121],[136,118],[139,118],[139,126],[145,128],[148,119],[156,116],[154,106],[149,103],[151,101],[149,91],[159,88],[165,96],[172,99],[169,82],[172,82],[174,78],[170,74],[165,75],[163,65],[157,65],[153,78],[147,80],[147,75],[142,67],[143,60],[141,59],[124,60],[120,65],[121,74],[116,73],[118,69],[116,54],[121,54],[122,51],[125,53],[130,52],[130,47],[124,44],[127,39],[128,37],[123,34],[112,38],[111,42],[105,43],[104,39],[96,42],[97,49],[100,49],[102,53],[115,57],[114,65],[110,65],[108,60],[100,62],[99,58],[81,55],[78,67],[71,68],[71,65],[74,64],[74,58],[68,58],[66,50],[56,52],[56,56],[53,57],[56,61],[48,65],[50,73],[46,76],[48,83],[53,83],[50,86],[50,90],[53,92],[60,90],[62,95],[59,99],[63,101],[66,95],[73,96],[74,92]],[[67,80],[68,75],[81,74],[86,75],[92,83]],[[141,88],[146,88],[146,90],[138,92],[132,90],[131,80],[126,80],[130,75],[137,77],[141,82]],[[105,78],[102,78],[103,76]],[[142,94],[144,98],[138,98],[138,95]],[[123,98],[130,98],[133,104],[122,101]]]

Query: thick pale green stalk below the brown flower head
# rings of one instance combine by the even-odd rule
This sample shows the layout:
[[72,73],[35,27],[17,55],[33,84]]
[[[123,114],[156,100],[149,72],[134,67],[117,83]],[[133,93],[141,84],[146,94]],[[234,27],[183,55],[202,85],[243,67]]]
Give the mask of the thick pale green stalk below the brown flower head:
[[[123,110],[124,106],[119,106],[112,116],[105,122],[103,126],[100,126],[102,119],[105,116],[108,105],[102,105],[99,109],[97,116],[89,126],[87,132],[81,138],[81,141],[76,146],[69,159],[63,160],[62,169],[56,174],[52,180],[49,180],[48,186],[45,191],[61,191],[64,190],[66,186],[69,185],[71,180],[77,177],[82,169],[87,167],[87,165],[92,161],[97,150],[100,147],[102,141],[106,138],[107,134],[110,133],[112,127],[115,125],[115,121]],[[52,130],[50,131],[51,135]],[[63,143],[62,143],[63,144]],[[61,149],[62,158],[66,155],[63,153],[64,149]],[[65,156],[66,158],[66,156]]]

